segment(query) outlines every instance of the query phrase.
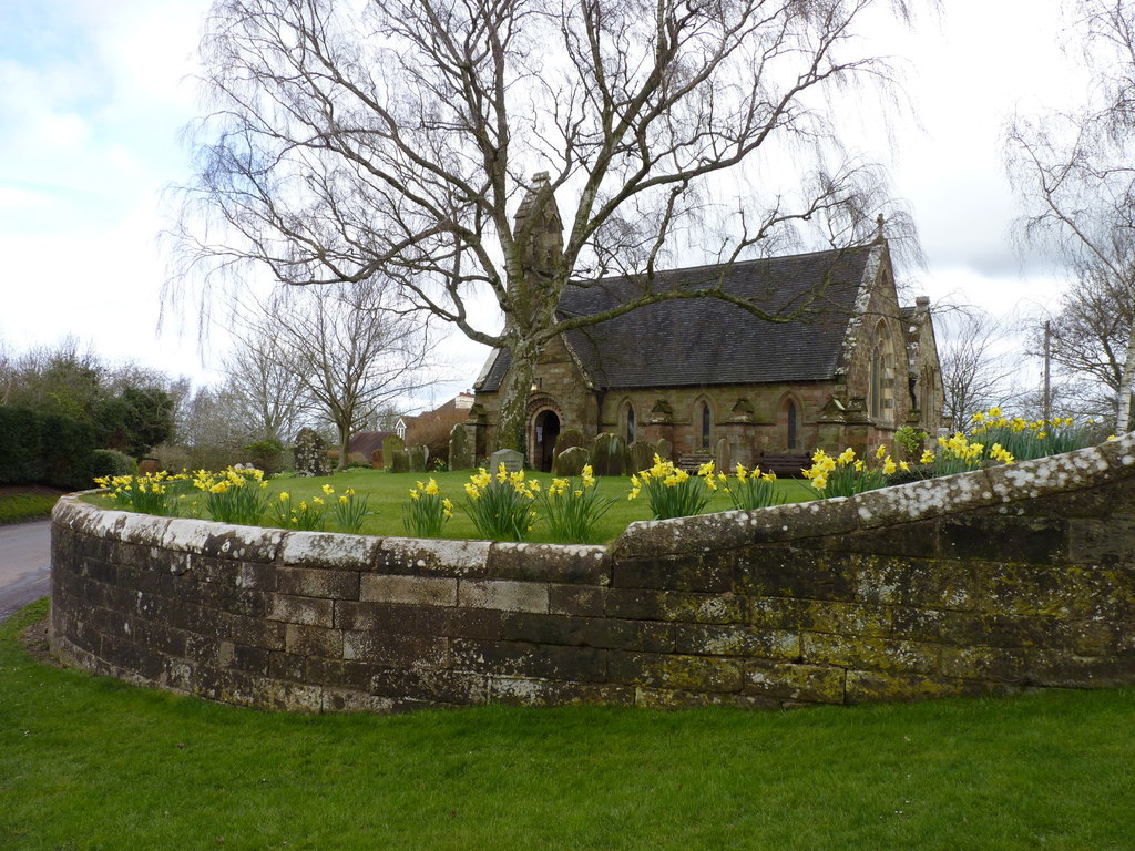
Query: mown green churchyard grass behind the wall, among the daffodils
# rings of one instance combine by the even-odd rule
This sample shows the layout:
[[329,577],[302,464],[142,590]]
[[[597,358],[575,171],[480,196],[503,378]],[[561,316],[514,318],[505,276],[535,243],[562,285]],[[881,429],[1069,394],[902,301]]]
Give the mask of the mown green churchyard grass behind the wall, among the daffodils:
[[[457,471],[447,473],[389,473],[379,470],[353,469],[335,475],[323,477],[294,477],[281,475],[268,481],[266,492],[269,497],[269,511],[261,523],[264,525],[276,525],[274,519],[277,516],[274,507],[279,505],[280,495],[287,494],[287,504],[291,509],[297,509],[300,505],[309,508],[317,505],[320,499],[328,508],[323,529],[327,531],[340,531],[336,525],[331,505],[347,489],[353,489],[359,497],[368,497],[368,514],[363,519],[362,534],[375,536],[404,536],[406,534],[403,524],[403,506],[410,500],[410,491],[418,487],[418,482],[428,483],[429,479],[437,482],[443,497],[460,504],[465,496],[465,485],[469,483],[470,472]],[[528,473],[529,479],[538,479],[543,488],[552,483],[550,473]],[[617,497],[611,509],[603,515],[595,528],[591,541],[603,544],[614,540],[627,528],[628,523],[636,520],[649,520],[650,508],[642,499],[630,500],[627,498],[631,490],[630,478],[628,477],[599,477],[597,479],[597,491],[599,496]],[[334,490],[328,494],[325,486]],[[802,480],[780,479],[775,482],[777,491],[787,502],[801,502],[814,499],[815,492],[806,487]],[[100,496],[89,497],[94,505],[107,508],[123,507],[116,505],[115,500]],[[208,516],[203,513],[204,499],[201,491],[188,490],[182,502],[180,513],[196,514],[196,516]],[[533,502],[535,505],[535,502]],[[538,506],[537,506],[538,507]],[[713,495],[706,512],[731,511],[732,503],[728,494],[718,490]],[[280,524],[283,525],[283,524]],[[296,526],[293,526],[296,528]],[[478,538],[473,521],[462,511],[454,511],[442,531],[443,538]],[[529,537],[529,541],[547,542],[552,541],[552,532],[546,523],[538,522]]]

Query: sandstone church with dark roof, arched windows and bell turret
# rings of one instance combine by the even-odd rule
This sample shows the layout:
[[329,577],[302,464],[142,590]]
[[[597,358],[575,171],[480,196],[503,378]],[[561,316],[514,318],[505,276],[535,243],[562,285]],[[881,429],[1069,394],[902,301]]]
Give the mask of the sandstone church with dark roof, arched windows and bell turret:
[[[518,211],[529,214],[532,193]],[[560,251],[555,205],[537,236]],[[725,293],[791,314],[770,322],[717,298],[675,298],[568,331],[547,345],[528,399],[529,463],[549,470],[556,437],[615,432],[665,438],[675,461],[718,456],[759,464],[847,446],[891,446],[905,424],[940,424],[942,378],[930,300],[900,306],[886,241],[791,256],[656,272],[657,290],[720,283]],[[588,315],[640,294],[637,276],[568,287],[560,315]],[[495,448],[508,352],[493,352],[474,386],[469,427],[477,454]],[[722,443],[724,441],[724,443]]]

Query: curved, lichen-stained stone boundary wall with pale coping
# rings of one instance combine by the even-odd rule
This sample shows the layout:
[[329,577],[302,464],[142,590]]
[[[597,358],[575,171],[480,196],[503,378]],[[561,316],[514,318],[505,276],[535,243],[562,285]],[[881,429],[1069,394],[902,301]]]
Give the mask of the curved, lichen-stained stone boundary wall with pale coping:
[[299,710],[780,707],[1135,682],[1135,437],[609,548],[155,519],[60,500],[52,646]]

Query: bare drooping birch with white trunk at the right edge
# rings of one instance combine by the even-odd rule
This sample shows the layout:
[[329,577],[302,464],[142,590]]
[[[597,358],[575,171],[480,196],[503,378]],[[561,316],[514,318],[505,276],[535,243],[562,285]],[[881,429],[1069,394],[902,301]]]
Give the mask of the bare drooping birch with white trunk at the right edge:
[[[1031,212],[1023,233],[1054,248],[1073,280],[1135,304],[1135,2],[1076,0],[1093,87],[1084,109],[1018,118],[1008,133],[1010,175]],[[1130,423],[1135,334],[1128,327],[1116,384],[1116,430]]]

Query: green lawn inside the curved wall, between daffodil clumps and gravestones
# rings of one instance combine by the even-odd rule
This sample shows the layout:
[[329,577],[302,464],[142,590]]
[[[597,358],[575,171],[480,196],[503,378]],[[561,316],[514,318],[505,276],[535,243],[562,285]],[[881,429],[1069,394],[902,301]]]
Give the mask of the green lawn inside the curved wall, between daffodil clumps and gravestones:
[[[354,488],[359,495],[369,496],[369,508],[371,514],[363,524],[364,534],[375,536],[402,536],[405,531],[402,526],[402,506],[410,499],[410,490],[415,481],[423,481],[432,475],[442,489],[443,496],[452,499],[456,505],[461,505],[465,498],[463,487],[469,481],[469,472],[454,473],[388,473],[379,470],[354,469],[343,473],[328,477],[295,478],[289,475],[278,477],[268,483],[271,494],[288,491],[292,502],[311,500],[314,497],[322,497],[322,487],[329,485],[335,488],[336,494],[342,494],[347,488]],[[531,477],[531,473],[529,474]],[[552,481],[550,474],[537,474],[541,483]],[[617,497],[617,502],[604,515],[596,528],[592,542],[602,544],[614,540],[627,528],[627,524],[636,520],[649,520],[650,511],[646,499],[640,497],[637,500],[627,499],[630,491],[630,479],[600,478],[597,487],[599,492],[606,496]],[[776,487],[788,502],[799,502],[814,498],[814,494],[808,490],[801,480],[782,479],[776,482]],[[197,491],[199,492],[199,491]],[[196,492],[187,497],[187,502],[196,500]],[[112,505],[109,500],[92,497],[96,505]],[[707,512],[721,512],[732,508],[729,496],[718,491],[713,502],[707,507]],[[267,521],[266,521],[267,522]],[[327,517],[326,529],[338,531],[330,514]],[[474,538],[476,530],[473,523],[460,509],[454,511],[453,519],[446,524],[444,538],[465,539]],[[538,523],[529,538],[531,541],[550,541],[548,530],[543,523]]]

